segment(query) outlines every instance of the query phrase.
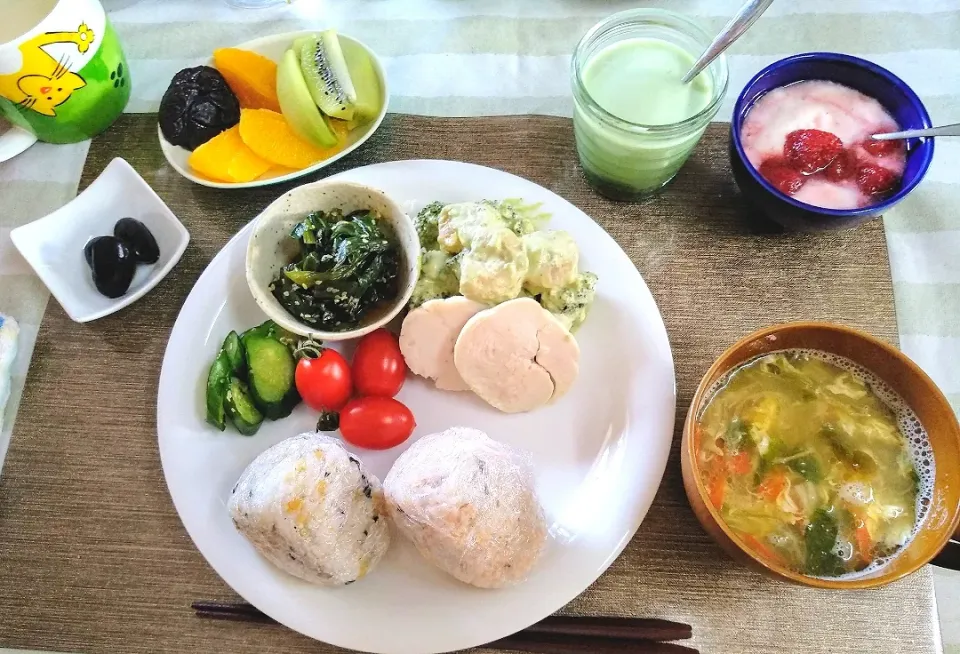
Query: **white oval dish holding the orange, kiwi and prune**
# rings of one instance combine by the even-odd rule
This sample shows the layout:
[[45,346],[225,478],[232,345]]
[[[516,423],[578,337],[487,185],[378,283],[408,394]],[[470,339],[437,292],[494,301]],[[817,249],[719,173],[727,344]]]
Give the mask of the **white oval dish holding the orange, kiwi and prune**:
[[[305,30],[301,32],[287,32],[285,34],[274,34],[273,36],[264,36],[259,39],[254,39],[253,41],[247,41],[246,43],[241,43],[240,45],[233,46],[239,48],[240,50],[250,50],[258,54],[272,59],[273,61],[279,62],[283,57],[283,53],[286,52],[287,48],[301,36],[308,36],[310,34],[316,34],[318,30]],[[390,104],[390,89],[387,86],[387,76],[383,72],[383,64],[380,62],[380,58],[377,57],[377,54],[371,50],[366,44],[361,43],[357,39],[347,36],[346,34],[338,33],[341,39],[345,41],[351,41],[356,43],[361,48],[367,51],[367,54],[370,55],[370,60],[373,62],[373,69],[376,71],[377,76],[380,78],[380,88],[383,90],[383,107],[380,108],[380,113],[377,115],[376,120],[371,123],[367,123],[361,127],[356,128],[351,131],[347,138],[349,143],[340,152],[336,153],[332,157],[324,159],[318,163],[315,163],[312,166],[304,168],[303,170],[296,170],[292,173],[287,173],[286,175],[274,175],[270,177],[270,173],[266,173],[266,177],[261,177],[260,179],[255,179],[252,182],[217,182],[212,179],[207,179],[205,177],[200,177],[195,175],[193,170],[190,168],[188,160],[190,159],[190,150],[186,148],[181,148],[180,146],[173,145],[167,139],[163,138],[163,131],[160,129],[160,125],[157,125],[157,138],[160,139],[160,149],[163,150],[163,156],[167,158],[167,162],[173,166],[173,169],[178,173],[189,179],[191,182],[196,182],[202,186],[209,186],[211,188],[254,188],[257,186],[270,186],[271,184],[282,184],[283,182],[289,182],[292,179],[297,179],[298,177],[303,177],[311,173],[315,173],[321,168],[325,168],[332,164],[335,161],[339,161],[344,158],[361,145],[363,145],[367,139],[373,136],[373,133],[377,131],[380,127],[380,123],[383,122],[384,116],[387,115],[387,105]],[[206,62],[206,66],[213,66],[213,57],[211,56]]]

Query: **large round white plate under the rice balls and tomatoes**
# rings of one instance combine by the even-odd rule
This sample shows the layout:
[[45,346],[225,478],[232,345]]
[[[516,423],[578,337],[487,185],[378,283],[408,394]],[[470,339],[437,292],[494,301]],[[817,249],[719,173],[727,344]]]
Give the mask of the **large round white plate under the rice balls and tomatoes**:
[[251,225],[207,267],[170,335],[157,400],[160,458],[170,494],[190,536],[224,581],[307,636],[378,654],[432,654],[502,638],[583,592],[646,515],[666,467],[676,404],[663,320],[616,242],[579,209],[532,182],[448,161],[398,161],[337,177],[380,188],[409,212],[434,200],[542,202],[553,215],[550,226],[568,230],[579,244],[581,268],[599,275],[596,303],[576,335],[580,376],[556,404],[506,415],[472,394],[438,391],[410,378],[398,399],[416,416],[411,439],[387,451],[354,450],[380,479],[411,442],[454,425],[483,429],[532,452],[550,524],[543,558],[526,582],[480,590],[431,567],[394,534],[390,551],[369,577],[329,589],[274,568],[237,533],[225,503],[240,473],[260,452],[312,431],[316,421],[301,405],[250,438],[229,428],[220,433],[204,422],[207,370],[224,336],[265,319],[243,274]]

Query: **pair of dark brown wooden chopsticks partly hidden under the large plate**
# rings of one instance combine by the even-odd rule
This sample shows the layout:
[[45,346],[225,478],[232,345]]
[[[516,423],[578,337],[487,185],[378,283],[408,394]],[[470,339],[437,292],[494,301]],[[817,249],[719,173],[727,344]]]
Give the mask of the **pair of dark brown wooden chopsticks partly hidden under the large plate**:
[[[246,602],[194,602],[191,607],[200,618],[276,624]],[[662,642],[692,635],[690,625],[671,620],[550,616],[484,647],[531,654],[696,654],[690,647]]]

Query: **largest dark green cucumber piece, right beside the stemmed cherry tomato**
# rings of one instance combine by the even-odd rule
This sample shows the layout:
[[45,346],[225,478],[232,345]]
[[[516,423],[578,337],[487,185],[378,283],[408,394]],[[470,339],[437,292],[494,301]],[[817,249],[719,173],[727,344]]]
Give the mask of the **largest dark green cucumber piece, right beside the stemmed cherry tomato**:
[[250,394],[257,408],[271,420],[290,415],[300,400],[294,384],[296,362],[290,349],[271,336],[244,334]]

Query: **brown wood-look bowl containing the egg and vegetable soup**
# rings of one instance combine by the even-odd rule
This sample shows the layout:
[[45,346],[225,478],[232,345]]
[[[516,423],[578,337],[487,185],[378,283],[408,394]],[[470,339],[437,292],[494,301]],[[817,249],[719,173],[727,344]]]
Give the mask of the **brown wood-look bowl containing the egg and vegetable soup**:
[[[727,527],[708,500],[697,467],[694,428],[709,399],[710,387],[732,369],[757,356],[795,348],[813,349],[846,357],[862,365],[896,391],[920,418],[930,438],[936,476],[933,501],[919,533],[886,566],[847,579],[808,577],[751,551]],[[734,559],[768,575],[819,588],[873,588],[900,579],[934,562],[960,568],[960,425],[936,384],[896,348],[861,331],[821,322],[796,322],[768,327],[735,343],[710,367],[697,388],[683,426],[681,445],[683,485],[700,524]],[[951,538],[955,541],[951,542]]]

